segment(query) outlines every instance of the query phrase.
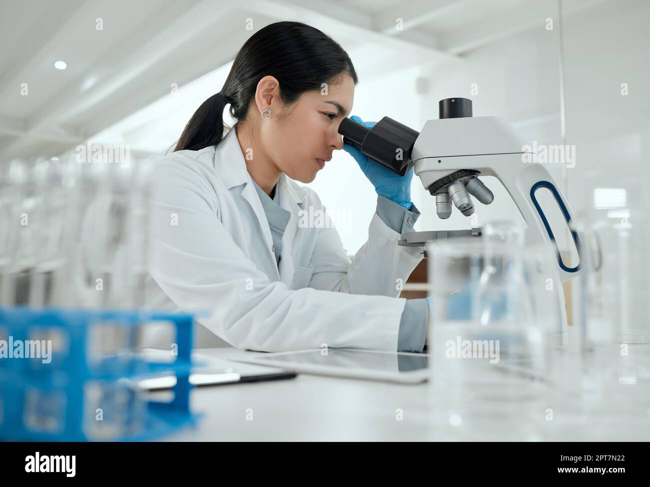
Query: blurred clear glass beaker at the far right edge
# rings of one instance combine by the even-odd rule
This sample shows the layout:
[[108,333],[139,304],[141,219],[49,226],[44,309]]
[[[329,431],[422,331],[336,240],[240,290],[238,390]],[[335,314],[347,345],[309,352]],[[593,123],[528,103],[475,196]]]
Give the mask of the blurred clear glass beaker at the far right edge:
[[650,218],[637,207],[577,218],[583,398],[593,414],[644,415],[650,393]]

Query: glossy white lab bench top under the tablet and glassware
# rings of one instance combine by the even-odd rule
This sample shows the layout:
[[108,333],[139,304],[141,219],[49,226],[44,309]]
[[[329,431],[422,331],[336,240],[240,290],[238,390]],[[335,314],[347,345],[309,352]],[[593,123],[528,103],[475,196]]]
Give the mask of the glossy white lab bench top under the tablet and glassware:
[[[257,352],[211,348],[200,353],[228,359]],[[192,391],[191,404],[194,412],[204,416],[196,427],[166,439],[650,440],[650,345],[629,346],[625,370],[617,372],[618,378],[608,382],[607,389],[593,387],[606,376],[598,365],[590,365],[601,363],[601,357],[595,352],[581,356],[575,346],[558,352],[558,367],[565,373],[549,397],[526,406],[469,397],[455,412],[432,407],[432,382],[406,385],[299,374],[288,380],[201,387]]]

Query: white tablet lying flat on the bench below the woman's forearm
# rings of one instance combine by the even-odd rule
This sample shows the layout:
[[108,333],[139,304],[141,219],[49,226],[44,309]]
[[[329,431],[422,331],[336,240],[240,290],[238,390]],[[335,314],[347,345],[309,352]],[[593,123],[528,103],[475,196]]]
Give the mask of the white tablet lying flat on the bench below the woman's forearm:
[[256,354],[233,360],[281,367],[306,374],[354,377],[389,382],[421,383],[428,380],[430,355],[328,348]]

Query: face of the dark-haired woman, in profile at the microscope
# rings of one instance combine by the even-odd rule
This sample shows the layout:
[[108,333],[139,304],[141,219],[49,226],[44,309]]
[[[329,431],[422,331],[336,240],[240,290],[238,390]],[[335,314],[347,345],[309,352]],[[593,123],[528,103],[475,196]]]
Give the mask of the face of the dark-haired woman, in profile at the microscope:
[[303,93],[294,104],[283,107],[286,115],[274,120],[272,113],[270,120],[262,121],[266,154],[289,178],[312,182],[332,152],[343,148],[339,124],[352,110],[353,101],[350,76],[327,85],[326,90]]

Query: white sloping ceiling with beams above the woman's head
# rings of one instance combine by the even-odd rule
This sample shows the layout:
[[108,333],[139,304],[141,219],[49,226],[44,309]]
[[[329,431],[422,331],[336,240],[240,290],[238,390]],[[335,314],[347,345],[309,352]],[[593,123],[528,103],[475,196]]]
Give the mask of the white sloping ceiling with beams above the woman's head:
[[[565,0],[565,14],[601,1]],[[161,135],[172,143],[178,128],[160,120],[170,114],[187,120],[220,89],[228,63],[248,36],[274,21],[298,20],[322,29],[367,76],[387,66],[458,61],[467,51],[556,16],[557,5],[557,0],[3,0],[0,163],[57,155],[91,137],[96,143],[141,141],[140,150],[149,153]],[[245,27],[248,18],[252,31]],[[402,30],[396,29],[398,18]],[[66,70],[54,68],[59,60],[68,64]],[[23,83],[27,96],[21,95]],[[170,93],[172,83],[177,93]]]

